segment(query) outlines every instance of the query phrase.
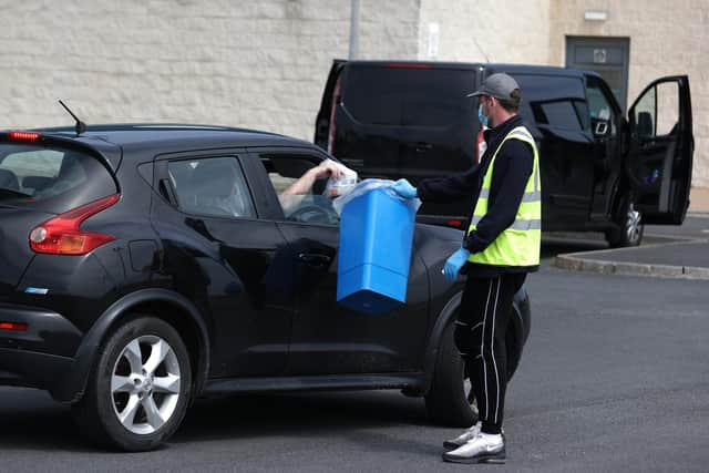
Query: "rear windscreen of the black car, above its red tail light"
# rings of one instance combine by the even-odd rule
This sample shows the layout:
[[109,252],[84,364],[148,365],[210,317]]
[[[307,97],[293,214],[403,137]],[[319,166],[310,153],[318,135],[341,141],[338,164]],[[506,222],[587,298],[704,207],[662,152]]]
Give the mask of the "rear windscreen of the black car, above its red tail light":
[[0,144],[0,204],[62,213],[116,193],[99,158],[64,148]]

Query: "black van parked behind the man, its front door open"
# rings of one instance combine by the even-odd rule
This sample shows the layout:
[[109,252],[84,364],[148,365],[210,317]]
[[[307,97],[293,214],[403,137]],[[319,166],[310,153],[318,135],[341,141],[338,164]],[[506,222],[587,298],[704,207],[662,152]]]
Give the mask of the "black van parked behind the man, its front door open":
[[[443,62],[341,61],[330,70],[315,142],[360,177],[414,185],[476,163],[477,101],[465,95],[495,72],[514,76],[537,141],[545,230],[604,232],[639,245],[644,224],[684,222],[693,136],[687,75],[649,84],[627,119],[594,72]],[[424,204],[419,220],[466,228],[470,202]]]

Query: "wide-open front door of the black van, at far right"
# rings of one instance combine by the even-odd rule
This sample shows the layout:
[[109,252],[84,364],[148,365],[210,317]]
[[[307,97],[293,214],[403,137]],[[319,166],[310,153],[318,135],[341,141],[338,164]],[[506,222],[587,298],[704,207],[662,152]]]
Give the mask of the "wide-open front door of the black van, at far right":
[[687,75],[649,84],[628,111],[627,173],[645,224],[680,225],[689,207],[692,135]]

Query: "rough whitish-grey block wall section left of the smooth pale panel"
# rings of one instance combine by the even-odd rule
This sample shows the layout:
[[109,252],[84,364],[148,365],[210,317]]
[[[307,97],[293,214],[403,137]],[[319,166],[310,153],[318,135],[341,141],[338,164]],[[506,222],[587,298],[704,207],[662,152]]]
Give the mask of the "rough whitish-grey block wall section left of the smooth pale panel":
[[[361,0],[360,56],[415,59],[418,0]],[[0,127],[189,122],[312,140],[350,0],[0,0]]]

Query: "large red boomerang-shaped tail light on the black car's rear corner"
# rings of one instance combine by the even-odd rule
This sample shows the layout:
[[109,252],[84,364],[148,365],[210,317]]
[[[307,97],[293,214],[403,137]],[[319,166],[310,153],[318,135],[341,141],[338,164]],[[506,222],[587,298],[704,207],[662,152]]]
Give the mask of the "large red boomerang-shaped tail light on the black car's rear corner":
[[35,253],[51,255],[85,255],[101,245],[113,241],[115,237],[84,232],[80,225],[92,215],[111,207],[119,198],[119,194],[110,195],[44,222],[30,232],[30,247]]

